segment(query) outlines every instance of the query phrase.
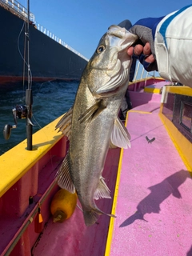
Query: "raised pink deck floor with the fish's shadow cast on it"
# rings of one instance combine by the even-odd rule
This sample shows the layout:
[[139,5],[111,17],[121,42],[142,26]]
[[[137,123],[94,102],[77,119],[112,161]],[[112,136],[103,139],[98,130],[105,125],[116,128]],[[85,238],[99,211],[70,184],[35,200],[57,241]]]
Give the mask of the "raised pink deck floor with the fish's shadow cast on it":
[[192,180],[155,102],[147,108],[128,114],[131,149],[122,156],[110,256],[190,256]]

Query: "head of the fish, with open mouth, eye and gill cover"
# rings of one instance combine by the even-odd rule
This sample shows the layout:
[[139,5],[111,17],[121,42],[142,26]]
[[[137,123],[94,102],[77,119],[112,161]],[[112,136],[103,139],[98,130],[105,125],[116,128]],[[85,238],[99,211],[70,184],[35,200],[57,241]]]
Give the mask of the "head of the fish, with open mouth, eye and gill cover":
[[86,82],[95,97],[111,94],[129,81],[132,58],[127,49],[137,39],[135,34],[114,25],[102,36],[86,68]]

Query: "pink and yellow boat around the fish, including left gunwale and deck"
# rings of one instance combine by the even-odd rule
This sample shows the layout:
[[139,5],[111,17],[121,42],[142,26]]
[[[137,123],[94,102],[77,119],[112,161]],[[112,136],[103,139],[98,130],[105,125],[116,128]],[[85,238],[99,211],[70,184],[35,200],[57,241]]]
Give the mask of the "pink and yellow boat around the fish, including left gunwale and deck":
[[[117,218],[103,214],[86,227],[76,208],[65,222],[53,223],[50,202],[58,190],[54,176],[68,148],[66,137],[54,130],[57,120],[34,134],[32,152],[25,150],[24,141],[2,155],[3,170],[13,170],[0,175],[1,256],[192,255],[191,142],[162,113],[164,106],[160,110],[165,96],[155,88],[162,90],[166,82],[156,80],[152,93],[141,90],[151,80],[129,86],[133,109],[126,126],[131,148],[107,154],[103,177],[114,202],[101,199],[97,205],[106,213],[112,209]],[[190,88],[173,87],[163,91],[192,97]],[[44,222],[40,234],[34,230],[39,205]]]

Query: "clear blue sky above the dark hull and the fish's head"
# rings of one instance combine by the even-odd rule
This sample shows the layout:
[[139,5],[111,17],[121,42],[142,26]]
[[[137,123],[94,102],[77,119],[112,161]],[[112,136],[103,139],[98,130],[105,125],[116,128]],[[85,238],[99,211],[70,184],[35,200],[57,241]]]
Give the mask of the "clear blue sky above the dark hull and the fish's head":
[[[27,6],[26,0],[18,2]],[[190,0],[30,0],[30,12],[46,30],[90,58],[110,25],[161,17],[190,4]]]

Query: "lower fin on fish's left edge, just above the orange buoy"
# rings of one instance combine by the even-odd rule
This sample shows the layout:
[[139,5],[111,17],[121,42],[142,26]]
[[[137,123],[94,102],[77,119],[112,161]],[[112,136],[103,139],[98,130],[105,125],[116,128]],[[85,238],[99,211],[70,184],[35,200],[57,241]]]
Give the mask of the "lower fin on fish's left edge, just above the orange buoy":
[[64,158],[62,162],[62,166],[58,170],[56,174],[56,178],[58,180],[58,186],[62,189],[68,190],[70,193],[75,192],[74,183],[70,177],[70,161],[69,154],[66,154],[66,158]]

